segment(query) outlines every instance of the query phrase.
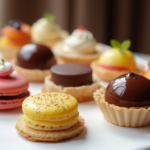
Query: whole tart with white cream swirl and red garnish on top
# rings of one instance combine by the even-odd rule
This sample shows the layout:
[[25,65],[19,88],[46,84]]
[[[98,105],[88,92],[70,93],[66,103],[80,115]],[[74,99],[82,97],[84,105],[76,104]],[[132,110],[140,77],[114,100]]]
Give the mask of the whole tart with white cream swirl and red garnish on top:
[[58,64],[81,63],[90,65],[98,59],[103,51],[103,45],[96,43],[93,34],[80,26],[66,40],[52,47]]

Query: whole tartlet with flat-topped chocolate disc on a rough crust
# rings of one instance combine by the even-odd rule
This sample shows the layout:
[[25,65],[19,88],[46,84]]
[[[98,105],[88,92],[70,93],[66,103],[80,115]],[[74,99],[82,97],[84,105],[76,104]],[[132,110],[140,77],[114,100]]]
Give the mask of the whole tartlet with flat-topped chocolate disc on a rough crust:
[[42,92],[63,92],[83,102],[93,100],[93,92],[99,87],[99,82],[92,79],[89,66],[67,63],[51,68],[51,75],[45,78]]

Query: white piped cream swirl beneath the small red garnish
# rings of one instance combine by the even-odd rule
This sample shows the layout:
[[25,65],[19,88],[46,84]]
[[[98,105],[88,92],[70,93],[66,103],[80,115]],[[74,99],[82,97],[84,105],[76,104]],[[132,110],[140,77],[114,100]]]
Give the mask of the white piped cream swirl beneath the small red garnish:
[[93,54],[95,53],[96,40],[88,30],[76,29],[64,41],[62,49],[67,53]]

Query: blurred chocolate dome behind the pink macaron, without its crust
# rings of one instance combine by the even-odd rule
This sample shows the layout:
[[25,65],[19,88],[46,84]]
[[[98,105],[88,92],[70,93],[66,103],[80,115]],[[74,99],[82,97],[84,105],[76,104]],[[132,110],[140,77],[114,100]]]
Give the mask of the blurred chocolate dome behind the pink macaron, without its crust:
[[44,70],[49,69],[56,62],[48,47],[31,43],[21,47],[16,63],[22,68]]

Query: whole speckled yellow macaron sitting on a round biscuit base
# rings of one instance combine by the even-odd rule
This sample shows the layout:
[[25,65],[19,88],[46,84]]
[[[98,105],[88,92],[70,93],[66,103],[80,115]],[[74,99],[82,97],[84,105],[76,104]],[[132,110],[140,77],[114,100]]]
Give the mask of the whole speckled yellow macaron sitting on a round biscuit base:
[[79,116],[76,98],[57,92],[30,96],[23,102],[22,109],[26,125],[37,130],[67,129]]

